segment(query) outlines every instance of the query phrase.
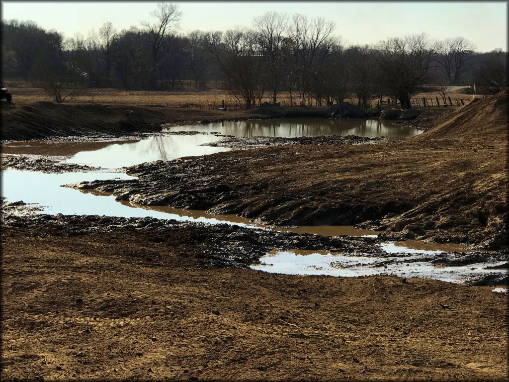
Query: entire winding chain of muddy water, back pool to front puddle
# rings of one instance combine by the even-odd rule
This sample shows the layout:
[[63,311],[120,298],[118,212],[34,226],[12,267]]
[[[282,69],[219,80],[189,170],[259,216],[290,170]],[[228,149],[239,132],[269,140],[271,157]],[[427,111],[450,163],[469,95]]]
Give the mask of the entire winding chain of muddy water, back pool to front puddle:
[[[36,203],[45,213],[97,214],[124,217],[151,216],[158,219],[175,219],[201,223],[227,223],[249,228],[264,228],[236,215],[214,215],[204,211],[183,210],[171,207],[144,206],[130,202],[117,202],[106,193],[87,190],[75,190],[61,185],[96,179],[129,179],[130,176],[119,172],[123,166],[153,160],[172,160],[183,156],[212,154],[230,151],[230,148],[201,146],[221,139],[216,136],[234,135],[235,137],[303,137],[320,135],[359,135],[362,137],[413,137],[420,130],[401,127],[378,120],[328,120],[328,119],[284,119],[195,124],[167,126],[164,131],[198,131],[200,133],[161,134],[132,141],[101,142],[54,142],[26,141],[13,142],[2,146],[5,154],[30,154],[54,157],[58,163],[76,163],[101,167],[94,172],[66,172],[46,174],[42,172],[5,170],[2,172],[2,196],[7,201],[22,200]],[[270,228],[274,229],[274,228]],[[374,236],[378,232],[359,230],[353,227],[297,227],[275,228],[296,233],[321,234],[328,236]],[[469,252],[467,247],[457,244],[423,243],[419,241],[382,243],[382,249],[390,253],[406,253],[413,258],[411,266],[398,261],[392,265],[377,266],[384,258],[363,258],[361,256],[343,256],[337,253],[321,251],[279,251],[274,249],[262,264],[253,265],[254,269],[288,274],[326,274],[334,276],[361,276],[380,273],[399,276],[430,277],[445,281],[459,282],[471,274],[487,272],[487,264],[465,267],[433,267],[429,263],[415,262],[415,256],[430,255],[440,251]],[[399,257],[400,260],[404,259]],[[491,270],[493,271],[493,270]]]

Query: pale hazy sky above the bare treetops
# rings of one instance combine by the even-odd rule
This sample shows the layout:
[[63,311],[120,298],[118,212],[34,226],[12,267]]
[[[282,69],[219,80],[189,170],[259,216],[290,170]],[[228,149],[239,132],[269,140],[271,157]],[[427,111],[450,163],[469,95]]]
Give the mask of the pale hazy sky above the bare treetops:
[[[388,37],[427,33],[432,39],[464,37],[478,51],[507,51],[507,1],[498,2],[173,2],[182,11],[180,32],[252,26],[267,11],[324,17],[347,44],[374,44]],[[117,31],[151,21],[157,2],[2,1],[2,19],[32,20],[73,37],[111,21]]]

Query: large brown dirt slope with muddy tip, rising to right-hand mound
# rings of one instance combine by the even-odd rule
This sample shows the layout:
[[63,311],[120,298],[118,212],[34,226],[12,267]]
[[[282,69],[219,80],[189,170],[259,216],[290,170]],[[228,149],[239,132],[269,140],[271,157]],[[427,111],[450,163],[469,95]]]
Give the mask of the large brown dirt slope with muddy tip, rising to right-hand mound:
[[394,238],[503,248],[506,105],[505,93],[478,101],[400,143],[224,152],[127,168],[137,180],[73,186],[278,225],[363,223]]

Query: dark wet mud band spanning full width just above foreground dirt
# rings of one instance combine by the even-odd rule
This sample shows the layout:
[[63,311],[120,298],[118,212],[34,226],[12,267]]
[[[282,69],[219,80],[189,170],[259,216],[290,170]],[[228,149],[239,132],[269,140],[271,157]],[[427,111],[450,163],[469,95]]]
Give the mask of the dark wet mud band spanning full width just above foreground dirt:
[[[495,264],[507,260],[507,251],[497,252],[438,252],[422,255],[409,255],[408,252],[386,252],[380,244],[386,240],[378,237],[321,236],[316,234],[297,234],[278,232],[270,229],[246,228],[232,224],[203,224],[178,222],[176,220],[156,219],[152,217],[114,217],[98,215],[63,215],[40,213],[36,205],[22,201],[2,204],[2,228],[15,231],[18,235],[32,237],[46,236],[82,236],[112,232],[146,235],[154,242],[165,242],[169,238],[180,237],[180,242],[189,246],[193,252],[196,266],[201,267],[241,267],[249,268],[260,264],[260,258],[277,250],[292,250],[297,253],[334,252],[342,256],[376,258],[366,267],[384,267],[386,265],[429,263],[442,267],[465,266],[469,264]],[[37,213],[39,212],[39,213]],[[396,249],[397,251],[397,249]],[[406,250],[408,251],[408,250]],[[426,251],[424,251],[426,252]],[[431,251],[429,251],[431,252]],[[163,256],[164,257],[164,256]],[[161,256],[150,256],[150,261],[164,261]],[[345,267],[337,262],[332,267]],[[349,265],[349,266],[351,266]],[[503,266],[503,265],[502,265]],[[498,269],[492,266],[493,269]],[[387,270],[389,272],[390,269]],[[375,271],[376,273],[377,271]],[[378,271],[380,272],[380,271]],[[506,272],[494,271],[493,274],[474,274],[462,281],[466,285],[505,285]]]

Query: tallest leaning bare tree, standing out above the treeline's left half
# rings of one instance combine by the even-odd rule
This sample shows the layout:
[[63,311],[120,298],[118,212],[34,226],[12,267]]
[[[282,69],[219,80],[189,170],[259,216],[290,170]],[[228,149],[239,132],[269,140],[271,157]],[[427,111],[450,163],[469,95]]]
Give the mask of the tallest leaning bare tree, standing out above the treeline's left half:
[[152,36],[152,85],[156,88],[157,74],[160,73],[160,62],[169,49],[172,31],[178,25],[182,16],[179,6],[176,4],[159,3],[157,9],[150,13],[156,18],[154,23],[142,22]]

